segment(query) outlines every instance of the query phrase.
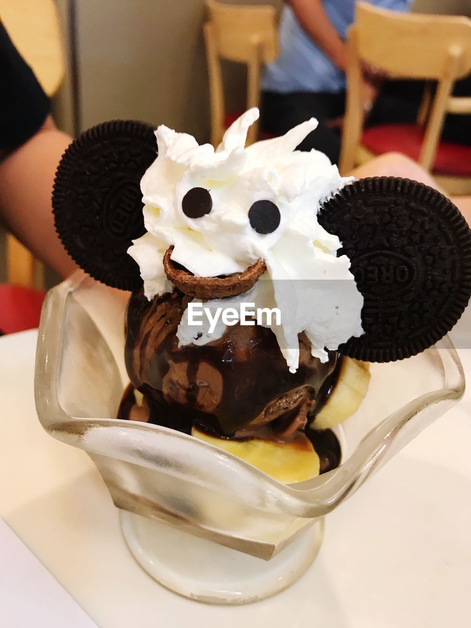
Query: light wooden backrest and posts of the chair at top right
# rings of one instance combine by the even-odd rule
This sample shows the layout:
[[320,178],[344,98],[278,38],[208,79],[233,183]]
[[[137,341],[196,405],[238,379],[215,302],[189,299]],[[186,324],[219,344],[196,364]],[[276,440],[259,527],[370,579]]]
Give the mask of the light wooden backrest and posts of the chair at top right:
[[471,19],[460,16],[404,14],[357,4],[355,24],[349,29],[347,111],[340,169],[355,165],[364,122],[360,61],[370,63],[391,78],[436,80],[435,97],[427,115],[421,107],[425,134],[420,163],[430,170],[447,111],[463,111],[468,104],[453,99],[455,81],[471,72]]

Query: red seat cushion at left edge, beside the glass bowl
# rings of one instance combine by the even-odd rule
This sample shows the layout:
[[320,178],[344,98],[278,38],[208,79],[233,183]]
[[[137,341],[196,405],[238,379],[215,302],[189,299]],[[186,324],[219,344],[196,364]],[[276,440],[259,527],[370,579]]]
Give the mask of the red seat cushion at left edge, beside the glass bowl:
[[41,290],[0,284],[0,330],[13,333],[38,327],[45,296]]

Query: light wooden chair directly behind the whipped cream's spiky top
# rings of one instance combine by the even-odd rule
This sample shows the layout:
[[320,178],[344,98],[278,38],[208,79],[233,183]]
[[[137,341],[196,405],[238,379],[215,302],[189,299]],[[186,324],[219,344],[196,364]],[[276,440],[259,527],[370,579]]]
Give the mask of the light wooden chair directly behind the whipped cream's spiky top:
[[[258,107],[260,73],[264,63],[278,56],[276,11],[273,6],[219,4],[207,0],[209,21],[204,26],[211,100],[211,141],[217,146],[225,129],[243,111],[227,112],[220,59],[247,65],[247,104]],[[247,134],[247,145],[258,136],[258,124]]]

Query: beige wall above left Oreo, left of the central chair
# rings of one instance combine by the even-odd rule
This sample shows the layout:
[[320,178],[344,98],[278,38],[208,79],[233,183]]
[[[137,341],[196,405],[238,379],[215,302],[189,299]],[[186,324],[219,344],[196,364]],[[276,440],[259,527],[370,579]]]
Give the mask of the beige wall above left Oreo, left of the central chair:
[[[66,16],[67,0],[57,3]],[[164,122],[207,141],[204,0],[76,0],[76,6],[82,129],[107,119],[136,118]],[[228,67],[227,76],[229,102],[242,106],[242,68]],[[55,109],[61,126],[70,129],[67,85]]]

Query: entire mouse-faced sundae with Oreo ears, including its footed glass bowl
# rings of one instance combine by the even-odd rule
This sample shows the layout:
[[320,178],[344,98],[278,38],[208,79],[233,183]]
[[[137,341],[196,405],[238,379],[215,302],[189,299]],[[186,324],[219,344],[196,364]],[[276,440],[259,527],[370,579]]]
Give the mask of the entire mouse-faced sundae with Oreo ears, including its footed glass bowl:
[[133,293],[126,311],[84,276],[55,288],[36,365],[43,426],[89,453],[136,560],[219,604],[295,582],[323,517],[464,389],[444,337],[471,294],[458,209],[297,151],[314,119],[246,146],[258,116],[217,148],[135,121],[70,145],[58,234]]

